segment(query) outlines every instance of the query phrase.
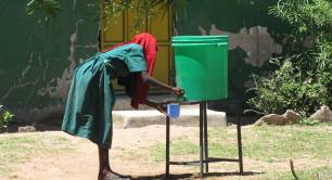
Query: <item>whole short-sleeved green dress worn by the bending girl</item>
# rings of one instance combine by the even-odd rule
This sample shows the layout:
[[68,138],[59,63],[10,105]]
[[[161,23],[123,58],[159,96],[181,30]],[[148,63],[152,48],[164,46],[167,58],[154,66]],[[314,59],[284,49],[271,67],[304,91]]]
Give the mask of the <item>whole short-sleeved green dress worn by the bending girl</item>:
[[62,130],[86,138],[110,149],[112,144],[112,108],[115,95],[111,80],[114,72],[146,70],[143,50],[139,44],[128,43],[107,52],[98,53],[76,67],[72,80]]

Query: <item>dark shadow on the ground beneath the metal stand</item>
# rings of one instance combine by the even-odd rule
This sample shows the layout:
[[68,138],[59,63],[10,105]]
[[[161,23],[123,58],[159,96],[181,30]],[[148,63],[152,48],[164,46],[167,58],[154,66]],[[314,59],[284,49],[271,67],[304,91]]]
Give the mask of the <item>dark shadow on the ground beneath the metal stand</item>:
[[[222,178],[222,177],[229,177],[229,176],[255,176],[260,175],[264,172],[254,172],[254,171],[245,171],[242,175],[240,172],[209,172],[205,173],[205,178]],[[169,178],[167,180],[177,180],[177,179],[199,179],[199,173],[179,173],[179,175],[169,175]],[[141,177],[131,177],[131,180],[166,180],[165,173],[157,175],[157,176],[141,176]]]

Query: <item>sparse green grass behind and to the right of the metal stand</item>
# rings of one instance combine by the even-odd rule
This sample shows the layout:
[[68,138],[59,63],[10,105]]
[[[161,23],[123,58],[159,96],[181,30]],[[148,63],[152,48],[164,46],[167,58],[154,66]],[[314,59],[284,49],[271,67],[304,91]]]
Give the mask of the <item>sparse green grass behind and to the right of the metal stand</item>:
[[[210,157],[238,157],[237,129],[209,128],[208,143]],[[261,126],[245,127],[242,129],[243,156],[252,160],[259,160],[266,165],[284,163],[290,158],[295,160],[329,160],[332,159],[332,127],[318,126]],[[165,159],[165,144],[159,143],[151,147],[151,156],[157,163]],[[199,134],[173,139],[170,156],[173,159],[197,159]],[[303,168],[303,167],[302,167]],[[317,173],[332,175],[331,168],[302,169],[298,173],[302,179],[310,179]],[[277,169],[276,169],[277,170]],[[288,168],[289,170],[289,168]],[[276,176],[276,177],[273,177]],[[267,179],[289,179],[290,171],[271,172],[263,176]],[[331,179],[331,178],[330,178]]]

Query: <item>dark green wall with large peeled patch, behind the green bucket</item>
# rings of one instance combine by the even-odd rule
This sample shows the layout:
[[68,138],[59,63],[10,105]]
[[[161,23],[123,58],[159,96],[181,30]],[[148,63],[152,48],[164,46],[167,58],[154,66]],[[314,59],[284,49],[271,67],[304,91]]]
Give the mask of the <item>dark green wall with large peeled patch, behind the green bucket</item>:
[[[277,0],[191,0],[175,13],[177,35],[229,35],[229,100],[245,108],[251,75],[269,70],[267,61],[282,53],[282,22],[268,15]],[[212,103],[229,111],[229,102]]]

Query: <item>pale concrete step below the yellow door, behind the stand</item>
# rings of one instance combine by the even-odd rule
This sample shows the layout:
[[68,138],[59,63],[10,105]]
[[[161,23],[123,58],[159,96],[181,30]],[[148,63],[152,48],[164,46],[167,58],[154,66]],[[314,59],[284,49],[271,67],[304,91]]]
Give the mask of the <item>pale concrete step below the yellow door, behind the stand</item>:
[[[116,128],[140,128],[149,125],[165,125],[165,115],[155,110],[113,111],[113,123]],[[181,106],[180,117],[171,119],[176,126],[199,126],[200,108],[197,105]],[[207,110],[207,124],[213,127],[226,127],[226,113]]]

